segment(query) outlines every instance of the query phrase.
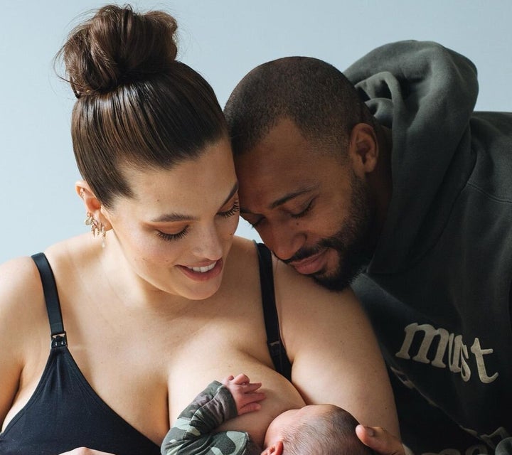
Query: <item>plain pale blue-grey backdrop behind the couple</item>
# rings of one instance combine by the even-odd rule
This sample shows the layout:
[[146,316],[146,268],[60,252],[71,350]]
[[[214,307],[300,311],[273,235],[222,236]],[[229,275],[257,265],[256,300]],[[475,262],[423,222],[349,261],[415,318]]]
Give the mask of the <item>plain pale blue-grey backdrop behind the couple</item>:
[[[1,0],[0,262],[87,232],[74,191],[70,140],[75,97],[53,57],[91,0]],[[512,110],[512,0],[135,1],[178,20],[178,58],[210,82],[225,105],[240,78],[286,55],[344,70],[378,45],[431,40],[479,70],[478,110]],[[511,151],[512,153],[512,151]],[[512,176],[511,176],[512,178]],[[258,238],[243,220],[238,234]],[[108,240],[108,236],[107,236]]]

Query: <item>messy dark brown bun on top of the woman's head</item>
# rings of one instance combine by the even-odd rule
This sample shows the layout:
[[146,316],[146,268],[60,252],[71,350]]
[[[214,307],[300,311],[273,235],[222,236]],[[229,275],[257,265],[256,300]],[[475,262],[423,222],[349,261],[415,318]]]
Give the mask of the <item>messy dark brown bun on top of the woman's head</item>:
[[107,5],[71,31],[58,53],[75,95],[95,95],[166,72],[176,59],[175,19]]

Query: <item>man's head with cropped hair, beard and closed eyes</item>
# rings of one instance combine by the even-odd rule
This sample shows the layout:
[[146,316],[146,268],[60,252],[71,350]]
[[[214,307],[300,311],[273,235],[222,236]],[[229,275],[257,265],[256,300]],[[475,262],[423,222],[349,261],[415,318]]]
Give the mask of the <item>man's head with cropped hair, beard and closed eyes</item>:
[[342,289],[375,247],[378,125],[346,77],[314,58],[260,65],[225,117],[240,213],[279,259]]

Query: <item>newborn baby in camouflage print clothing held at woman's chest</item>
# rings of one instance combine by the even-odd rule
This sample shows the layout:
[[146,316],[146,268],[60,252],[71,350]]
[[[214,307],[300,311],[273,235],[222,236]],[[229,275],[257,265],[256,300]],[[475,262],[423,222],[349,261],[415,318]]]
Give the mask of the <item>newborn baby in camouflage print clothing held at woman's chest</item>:
[[341,407],[309,405],[270,422],[263,449],[245,432],[214,430],[228,419],[260,409],[261,382],[241,373],[213,381],[181,412],[164,438],[162,455],[370,455],[356,437],[357,420]]

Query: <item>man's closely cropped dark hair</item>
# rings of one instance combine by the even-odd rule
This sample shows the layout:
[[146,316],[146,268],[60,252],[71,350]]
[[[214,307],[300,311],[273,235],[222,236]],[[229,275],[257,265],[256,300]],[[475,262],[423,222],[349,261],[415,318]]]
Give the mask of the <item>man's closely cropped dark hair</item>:
[[224,108],[233,153],[252,150],[276,126],[291,119],[310,141],[346,152],[349,134],[373,116],[350,81],[333,65],[309,57],[285,57],[254,68]]

